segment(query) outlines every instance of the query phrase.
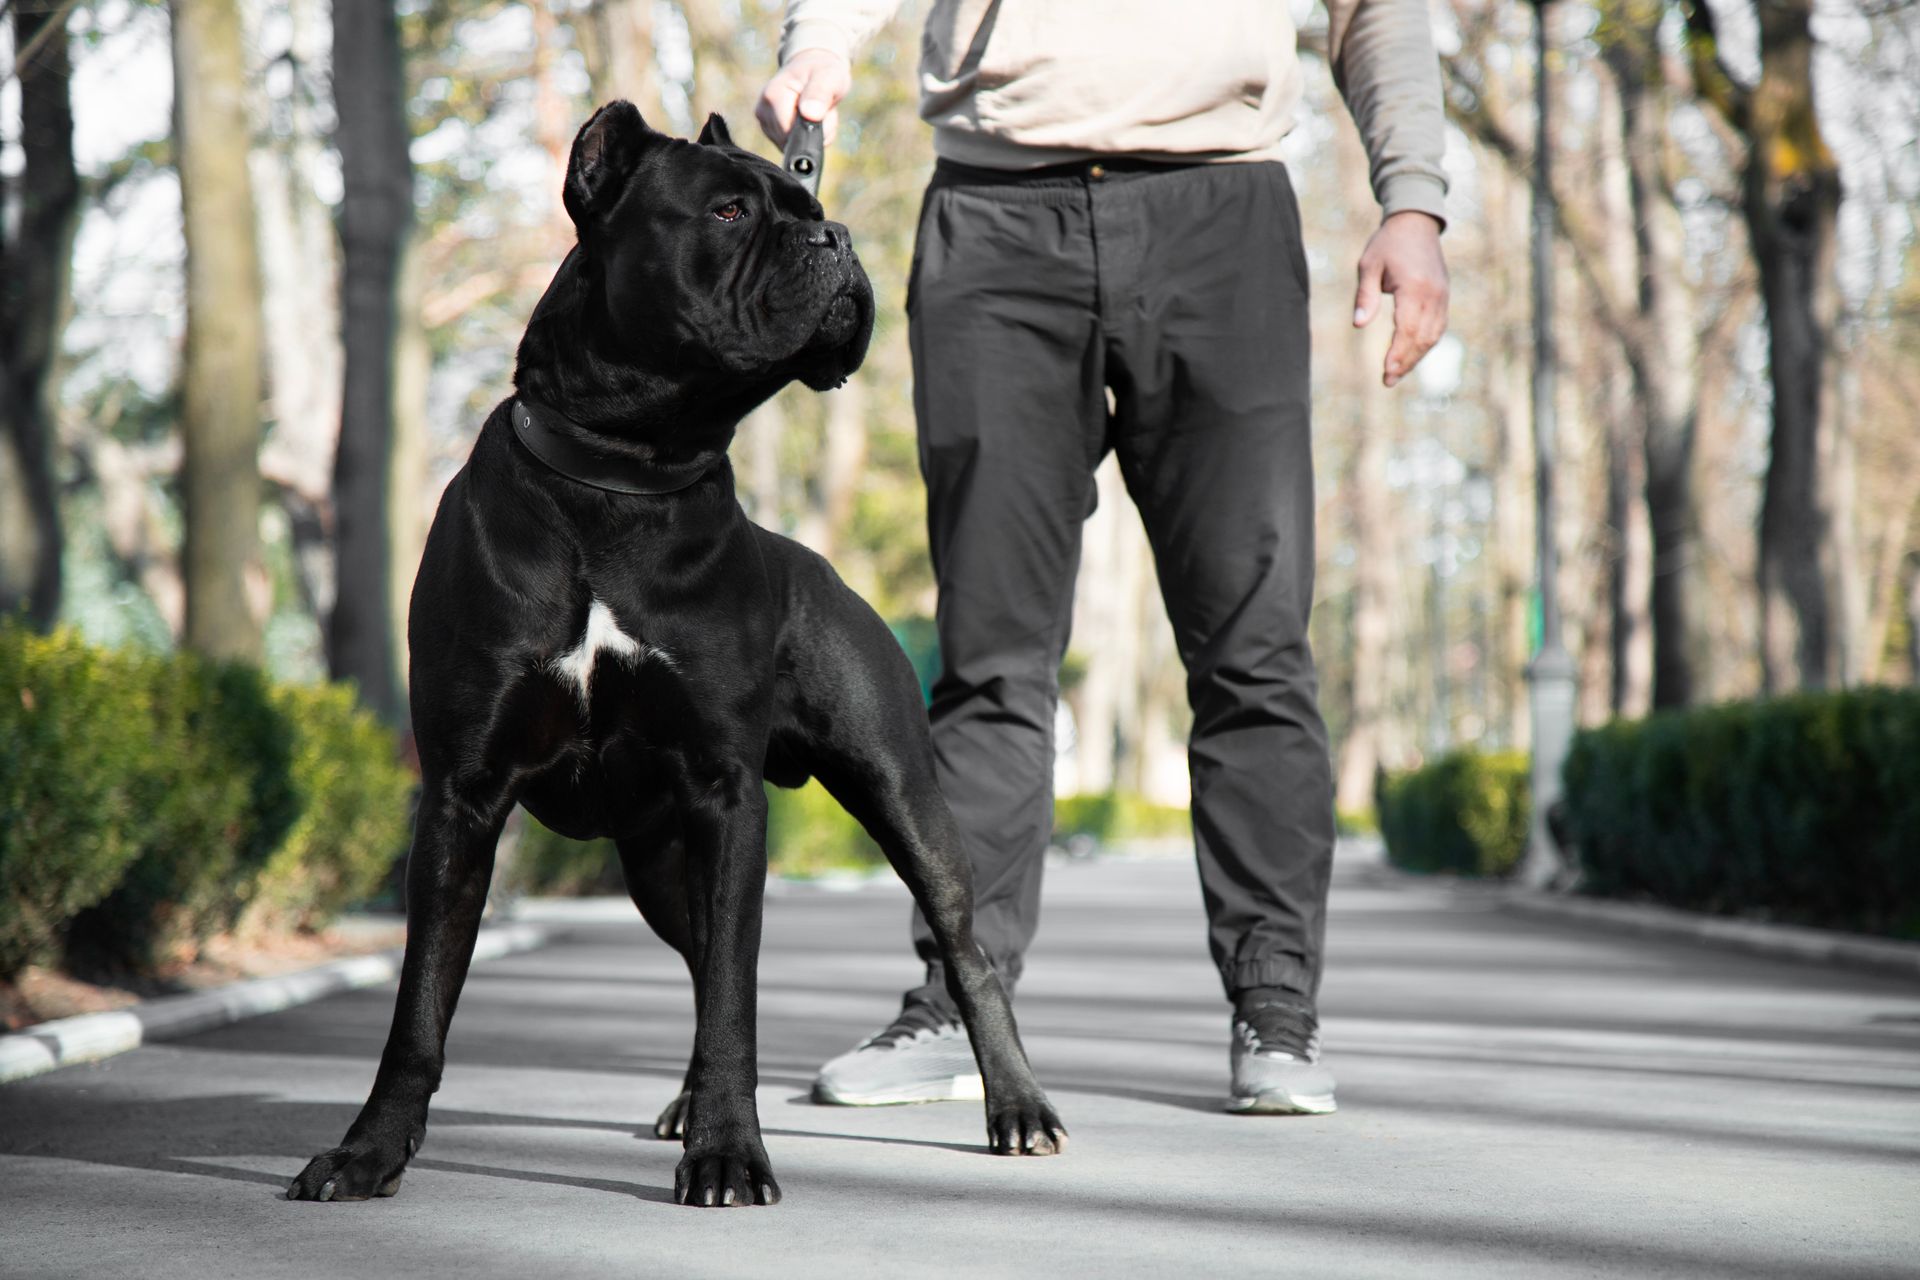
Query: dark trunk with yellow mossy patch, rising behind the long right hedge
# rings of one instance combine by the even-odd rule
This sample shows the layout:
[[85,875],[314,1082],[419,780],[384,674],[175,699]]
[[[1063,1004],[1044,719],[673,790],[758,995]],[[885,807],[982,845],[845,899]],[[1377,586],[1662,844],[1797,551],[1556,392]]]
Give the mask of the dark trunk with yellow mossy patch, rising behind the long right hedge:
[[1766,691],[1839,677],[1834,545],[1832,342],[1839,165],[1812,96],[1812,0],[1764,0],[1761,81],[1747,98],[1743,211],[1766,303],[1772,457],[1761,497],[1761,679]]

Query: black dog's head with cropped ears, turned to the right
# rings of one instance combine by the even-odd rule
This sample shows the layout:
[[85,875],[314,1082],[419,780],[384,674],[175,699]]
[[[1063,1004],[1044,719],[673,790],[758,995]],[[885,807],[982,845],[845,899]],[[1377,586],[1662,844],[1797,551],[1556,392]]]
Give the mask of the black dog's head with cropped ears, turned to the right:
[[628,102],[601,107],[574,138],[564,201],[616,355],[764,393],[839,386],[866,357],[874,290],[847,228],[718,115],[687,142]]

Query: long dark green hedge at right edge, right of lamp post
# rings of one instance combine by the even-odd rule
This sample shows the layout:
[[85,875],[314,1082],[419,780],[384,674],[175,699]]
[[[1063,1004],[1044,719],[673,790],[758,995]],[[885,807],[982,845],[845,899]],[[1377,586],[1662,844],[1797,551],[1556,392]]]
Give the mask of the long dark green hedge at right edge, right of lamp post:
[[1617,722],[1565,779],[1586,892],[1920,936],[1920,691]]

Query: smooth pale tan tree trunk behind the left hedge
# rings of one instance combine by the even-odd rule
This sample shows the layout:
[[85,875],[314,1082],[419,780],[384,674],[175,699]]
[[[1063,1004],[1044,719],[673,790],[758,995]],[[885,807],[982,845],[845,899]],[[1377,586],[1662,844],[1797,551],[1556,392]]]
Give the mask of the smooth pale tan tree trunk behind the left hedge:
[[240,10],[173,0],[173,113],[186,223],[180,459],[188,649],[261,658],[261,292]]

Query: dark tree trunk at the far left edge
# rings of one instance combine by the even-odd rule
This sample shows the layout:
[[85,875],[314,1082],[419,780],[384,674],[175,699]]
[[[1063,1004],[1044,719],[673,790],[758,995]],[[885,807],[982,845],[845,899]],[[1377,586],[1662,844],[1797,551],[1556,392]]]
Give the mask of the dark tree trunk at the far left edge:
[[[48,31],[58,21],[60,27]],[[73,267],[81,188],[73,173],[65,10],[15,0],[19,223],[0,240],[0,616],[35,628],[60,614],[60,489],[54,474],[54,363]],[[4,188],[0,188],[4,194]]]

